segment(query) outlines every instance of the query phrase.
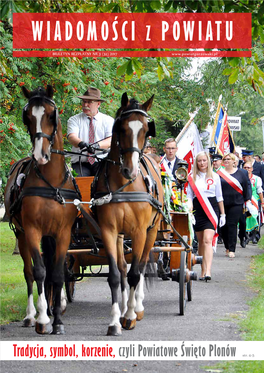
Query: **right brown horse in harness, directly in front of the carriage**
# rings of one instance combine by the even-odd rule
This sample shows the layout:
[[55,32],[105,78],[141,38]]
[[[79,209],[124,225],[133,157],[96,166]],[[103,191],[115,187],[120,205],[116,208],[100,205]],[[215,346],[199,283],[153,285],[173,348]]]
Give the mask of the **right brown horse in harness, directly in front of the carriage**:
[[[120,335],[135,327],[144,315],[143,281],[149,253],[157,237],[163,189],[157,163],[143,154],[147,136],[155,135],[154,121],[147,111],[152,96],[140,105],[124,93],[113,127],[111,149],[99,172],[96,198],[106,195],[110,203],[96,207],[102,240],[109,262],[108,282],[112,293],[111,322],[108,335]],[[96,179],[96,178],[95,178]],[[109,198],[108,198],[109,197]],[[102,198],[100,198],[102,201]],[[130,294],[126,296],[126,261],[122,236],[132,241],[132,264],[127,274]],[[121,273],[122,311],[118,305]],[[121,321],[121,323],[120,323]]]

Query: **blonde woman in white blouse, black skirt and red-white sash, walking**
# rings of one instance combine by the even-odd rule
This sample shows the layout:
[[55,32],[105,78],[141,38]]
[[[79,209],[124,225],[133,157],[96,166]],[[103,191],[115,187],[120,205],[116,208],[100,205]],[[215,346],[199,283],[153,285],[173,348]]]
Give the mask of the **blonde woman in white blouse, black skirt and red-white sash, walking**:
[[202,151],[194,160],[189,178],[187,197],[195,217],[194,230],[198,239],[198,253],[203,256],[200,280],[211,280],[213,240],[218,225],[225,225],[225,211],[220,177],[213,172],[209,154]]

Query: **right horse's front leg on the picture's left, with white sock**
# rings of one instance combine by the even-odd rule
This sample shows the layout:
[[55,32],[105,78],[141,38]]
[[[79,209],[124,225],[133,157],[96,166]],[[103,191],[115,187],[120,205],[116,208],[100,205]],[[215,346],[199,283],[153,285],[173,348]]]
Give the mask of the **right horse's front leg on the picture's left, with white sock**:
[[112,233],[108,229],[102,229],[102,238],[108,256],[109,276],[107,281],[112,296],[111,320],[108,326],[107,335],[118,336],[122,334],[120,324],[121,312],[118,305],[118,287],[120,283],[120,272],[117,267],[118,238],[117,234]]

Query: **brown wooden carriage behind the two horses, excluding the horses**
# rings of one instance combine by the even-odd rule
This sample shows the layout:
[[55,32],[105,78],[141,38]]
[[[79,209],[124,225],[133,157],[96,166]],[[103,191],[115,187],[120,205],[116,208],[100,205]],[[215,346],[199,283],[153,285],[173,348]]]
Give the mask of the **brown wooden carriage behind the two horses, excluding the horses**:
[[[178,174],[181,181],[185,178]],[[183,178],[183,179],[182,179]],[[74,301],[76,282],[85,277],[107,277],[108,271],[103,266],[108,265],[107,255],[101,241],[100,229],[94,226],[91,201],[91,185],[94,177],[78,177],[77,185],[82,195],[82,213],[79,214],[72,228],[72,240],[65,262],[65,290],[69,302]],[[187,212],[171,211],[170,219],[161,220],[155,244],[151,249],[151,258],[162,267],[164,276],[179,284],[179,315],[184,315],[187,301],[192,300],[192,281],[197,280],[194,272],[195,264],[201,264],[202,257],[193,252],[192,238],[189,230]],[[93,232],[93,233],[92,233]],[[127,263],[131,263],[131,240],[123,239],[124,255]],[[164,260],[162,253],[168,253]],[[147,273],[146,276],[151,276]],[[162,277],[162,274],[160,275]]]

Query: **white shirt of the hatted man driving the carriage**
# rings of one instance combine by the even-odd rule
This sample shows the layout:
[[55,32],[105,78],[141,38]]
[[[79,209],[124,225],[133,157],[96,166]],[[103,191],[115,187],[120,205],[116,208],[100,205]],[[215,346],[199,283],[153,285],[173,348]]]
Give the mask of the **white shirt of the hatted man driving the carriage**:
[[[94,142],[105,139],[108,136],[112,135],[112,128],[114,124],[114,118],[109,115],[98,112],[93,117],[93,123],[95,128]],[[89,126],[90,119],[84,113],[74,115],[68,120],[67,123],[67,136],[71,133],[76,134],[79,139],[89,144]],[[80,152],[80,148],[72,147],[72,151]],[[84,153],[85,154],[85,153]],[[106,154],[100,155],[100,158],[105,157]],[[78,155],[71,156],[72,163],[79,162]],[[87,162],[87,157],[82,157],[82,162]]]

